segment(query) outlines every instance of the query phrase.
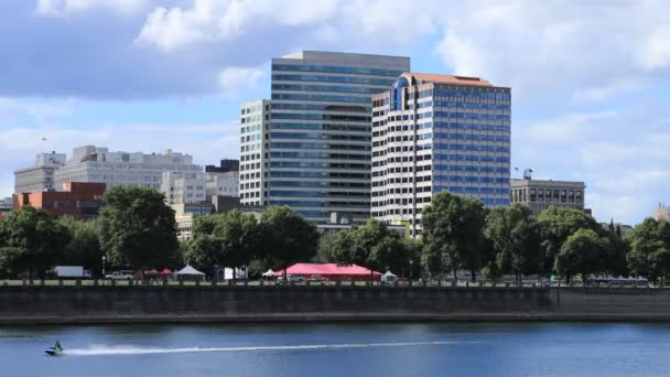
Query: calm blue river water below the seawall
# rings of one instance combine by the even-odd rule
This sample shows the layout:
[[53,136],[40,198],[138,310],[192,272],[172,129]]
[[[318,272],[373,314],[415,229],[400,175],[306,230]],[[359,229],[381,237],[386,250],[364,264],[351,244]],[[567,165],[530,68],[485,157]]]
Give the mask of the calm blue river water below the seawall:
[[0,376],[633,375],[670,376],[670,325],[0,327]]

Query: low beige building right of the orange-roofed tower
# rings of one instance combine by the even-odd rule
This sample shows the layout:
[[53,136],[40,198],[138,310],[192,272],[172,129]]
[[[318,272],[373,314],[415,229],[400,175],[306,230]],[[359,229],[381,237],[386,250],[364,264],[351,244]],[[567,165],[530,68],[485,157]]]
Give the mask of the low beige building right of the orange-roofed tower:
[[530,208],[533,216],[550,205],[570,207],[590,213],[584,208],[586,185],[575,181],[511,180],[510,202]]

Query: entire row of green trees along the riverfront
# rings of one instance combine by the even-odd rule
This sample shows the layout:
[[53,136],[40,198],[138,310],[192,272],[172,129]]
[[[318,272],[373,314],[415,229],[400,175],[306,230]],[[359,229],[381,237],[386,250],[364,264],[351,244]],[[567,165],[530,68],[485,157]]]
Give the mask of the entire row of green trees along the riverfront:
[[[56,219],[25,206],[0,222],[0,270],[43,274],[56,265],[99,272],[108,268],[174,268],[188,262],[248,266],[251,274],[299,261],[360,265],[401,274],[446,274],[469,270],[472,279],[509,273],[644,276],[663,281],[670,273],[670,224],[645,219],[626,238],[581,211],[549,207],[537,218],[528,208],[485,208],[480,201],[446,192],[422,216],[420,240],[369,219],[350,230],[318,236],[316,227],[288,207],[261,216],[231,211],[198,217],[193,237],[176,240],[174,212],[151,188],[116,186],[105,195],[97,219]],[[412,263],[415,261],[415,263]]]

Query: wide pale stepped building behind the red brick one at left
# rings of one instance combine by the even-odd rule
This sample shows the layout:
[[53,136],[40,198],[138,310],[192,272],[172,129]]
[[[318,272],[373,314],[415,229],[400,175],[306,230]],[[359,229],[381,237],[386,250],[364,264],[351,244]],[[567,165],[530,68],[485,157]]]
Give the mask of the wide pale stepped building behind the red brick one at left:
[[100,182],[107,188],[116,185],[138,185],[161,188],[163,172],[195,173],[202,168],[193,157],[174,153],[110,152],[107,148],[84,146],[73,150],[64,166],[55,172],[56,185],[68,182]]

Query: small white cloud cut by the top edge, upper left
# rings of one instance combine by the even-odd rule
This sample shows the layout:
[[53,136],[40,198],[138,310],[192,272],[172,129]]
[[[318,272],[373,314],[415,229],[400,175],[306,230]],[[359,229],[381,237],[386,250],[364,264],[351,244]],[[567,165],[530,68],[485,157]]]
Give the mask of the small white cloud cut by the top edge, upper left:
[[35,12],[42,17],[67,17],[91,10],[134,15],[145,10],[150,0],[37,0]]

